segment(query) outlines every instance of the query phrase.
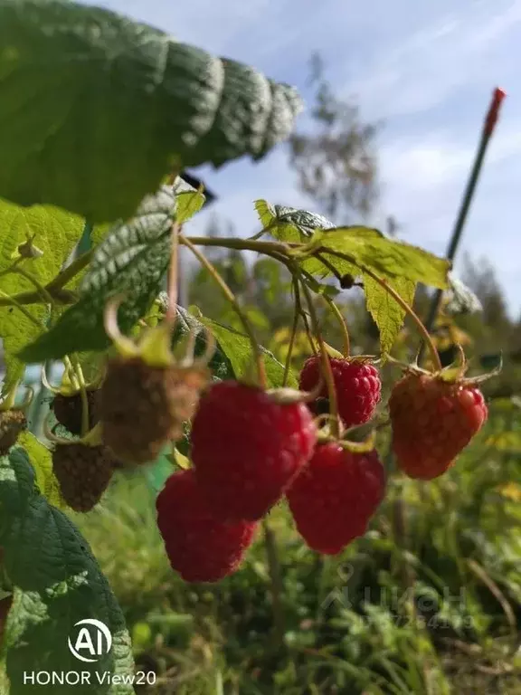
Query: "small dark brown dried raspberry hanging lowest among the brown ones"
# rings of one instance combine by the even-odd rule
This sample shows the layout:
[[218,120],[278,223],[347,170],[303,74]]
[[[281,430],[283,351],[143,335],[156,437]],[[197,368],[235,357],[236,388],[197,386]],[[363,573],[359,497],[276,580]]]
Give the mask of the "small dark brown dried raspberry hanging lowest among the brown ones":
[[57,443],[52,452],[52,470],[63,500],[74,511],[90,511],[98,504],[115,467],[113,455],[102,444]]

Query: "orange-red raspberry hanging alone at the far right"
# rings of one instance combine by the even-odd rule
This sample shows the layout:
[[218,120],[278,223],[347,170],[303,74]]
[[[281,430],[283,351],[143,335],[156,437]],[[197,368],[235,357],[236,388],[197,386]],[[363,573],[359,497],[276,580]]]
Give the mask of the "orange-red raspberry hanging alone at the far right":
[[389,413],[398,467],[429,481],[450,468],[487,420],[488,408],[472,384],[410,372],[394,386]]

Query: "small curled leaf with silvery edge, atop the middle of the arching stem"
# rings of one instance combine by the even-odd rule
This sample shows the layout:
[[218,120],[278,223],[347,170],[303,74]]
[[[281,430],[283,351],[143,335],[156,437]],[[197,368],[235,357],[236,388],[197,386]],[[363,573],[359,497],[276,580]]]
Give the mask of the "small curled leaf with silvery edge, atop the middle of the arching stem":
[[265,200],[255,201],[255,210],[262,227],[270,229],[271,236],[281,242],[308,242],[317,229],[333,229],[335,224],[326,217],[307,210],[296,210],[286,205],[270,205]]

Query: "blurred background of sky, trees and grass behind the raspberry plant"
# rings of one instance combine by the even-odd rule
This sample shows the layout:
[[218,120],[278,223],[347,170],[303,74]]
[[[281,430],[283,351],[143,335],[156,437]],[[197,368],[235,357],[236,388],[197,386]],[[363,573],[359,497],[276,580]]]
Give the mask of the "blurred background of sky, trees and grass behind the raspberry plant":
[[[236,575],[187,586],[156,530],[161,460],[111,485],[74,520],[126,615],[137,664],[169,695],[521,694],[521,263],[518,192],[521,2],[302,0],[100,3],[186,43],[295,84],[307,110],[289,143],[260,164],[185,172],[210,195],[185,233],[248,236],[253,200],[372,224],[444,255],[492,89],[508,92],[455,264],[469,291],[445,298],[433,335],[444,364],[464,346],[490,417],[457,466],[423,484],[392,475],[370,532],[339,557],[308,551],[284,506],[270,515],[279,552],[284,648],[273,631],[260,537]],[[515,79],[516,78],[516,79]],[[270,259],[209,252],[261,343],[284,361],[293,319],[289,277]],[[181,301],[241,329],[204,271],[184,258]],[[354,287],[336,298],[353,352],[375,354],[378,332]],[[420,287],[415,309],[429,313]],[[322,310],[317,307],[318,310]],[[323,315],[327,342],[341,347]],[[418,347],[406,323],[394,356]],[[293,367],[308,357],[298,335]],[[384,401],[397,376],[384,370]],[[55,378],[58,378],[58,371]],[[39,370],[27,372],[28,382]],[[37,431],[48,394],[35,399]],[[379,449],[389,453],[388,434]],[[144,691],[145,692],[145,691]]]

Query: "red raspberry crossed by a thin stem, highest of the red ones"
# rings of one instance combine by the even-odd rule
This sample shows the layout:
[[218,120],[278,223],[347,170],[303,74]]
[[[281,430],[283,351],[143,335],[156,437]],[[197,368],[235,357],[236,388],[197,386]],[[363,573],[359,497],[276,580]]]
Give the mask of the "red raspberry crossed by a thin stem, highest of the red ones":
[[[382,382],[378,370],[369,362],[329,357],[336,387],[338,414],[346,427],[368,422],[382,397]],[[322,373],[321,357],[309,357],[300,372],[301,391],[313,391]],[[327,385],[320,393],[327,398]],[[317,405],[317,404],[315,404]],[[317,412],[317,408],[313,408]]]

